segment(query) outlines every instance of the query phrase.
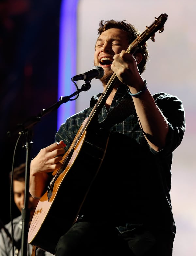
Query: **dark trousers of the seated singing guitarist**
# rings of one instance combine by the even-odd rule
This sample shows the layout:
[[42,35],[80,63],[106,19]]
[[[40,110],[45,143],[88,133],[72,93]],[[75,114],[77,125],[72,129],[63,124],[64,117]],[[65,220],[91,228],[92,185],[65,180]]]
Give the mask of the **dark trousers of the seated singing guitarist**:
[[172,256],[173,242],[149,231],[122,234],[114,227],[75,223],[56,246],[56,256]]

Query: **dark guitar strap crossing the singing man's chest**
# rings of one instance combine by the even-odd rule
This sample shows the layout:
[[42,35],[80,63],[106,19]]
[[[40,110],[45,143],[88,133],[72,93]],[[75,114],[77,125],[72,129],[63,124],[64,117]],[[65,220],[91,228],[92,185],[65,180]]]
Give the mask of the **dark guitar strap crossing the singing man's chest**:
[[136,112],[132,98],[125,98],[118,106],[112,109],[107,118],[100,123],[100,128],[110,129],[117,123],[122,123],[127,117]]

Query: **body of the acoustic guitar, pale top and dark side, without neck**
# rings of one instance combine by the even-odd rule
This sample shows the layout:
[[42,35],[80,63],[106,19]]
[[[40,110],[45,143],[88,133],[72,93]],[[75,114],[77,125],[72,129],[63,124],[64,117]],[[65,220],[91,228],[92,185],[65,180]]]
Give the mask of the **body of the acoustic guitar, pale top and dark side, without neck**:
[[[52,254],[55,254],[59,238],[76,221],[106,152],[108,134],[86,134],[87,131],[77,142],[64,171],[55,180],[50,198],[46,191],[39,200],[29,228],[28,243]],[[87,141],[87,137],[93,138],[93,144]],[[62,161],[67,157],[65,154]]]

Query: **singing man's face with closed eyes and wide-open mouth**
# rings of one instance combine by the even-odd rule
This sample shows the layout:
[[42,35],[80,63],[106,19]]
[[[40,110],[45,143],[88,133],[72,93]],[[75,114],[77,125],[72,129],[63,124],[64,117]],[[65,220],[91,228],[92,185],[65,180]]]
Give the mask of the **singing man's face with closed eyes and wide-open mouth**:
[[94,53],[94,65],[104,69],[104,76],[101,81],[108,82],[113,74],[110,66],[113,56],[129,47],[127,34],[121,29],[105,30],[97,39]]

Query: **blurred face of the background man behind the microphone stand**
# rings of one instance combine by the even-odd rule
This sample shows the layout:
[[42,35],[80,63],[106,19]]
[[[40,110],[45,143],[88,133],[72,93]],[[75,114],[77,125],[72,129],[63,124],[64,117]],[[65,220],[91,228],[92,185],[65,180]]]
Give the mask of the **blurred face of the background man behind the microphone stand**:
[[[25,182],[24,181],[13,181],[13,193],[14,193],[14,202],[17,208],[22,211],[24,208],[24,191],[25,191]],[[32,220],[35,208],[38,204],[39,199],[34,199],[29,194],[28,209],[30,211],[30,220]]]

